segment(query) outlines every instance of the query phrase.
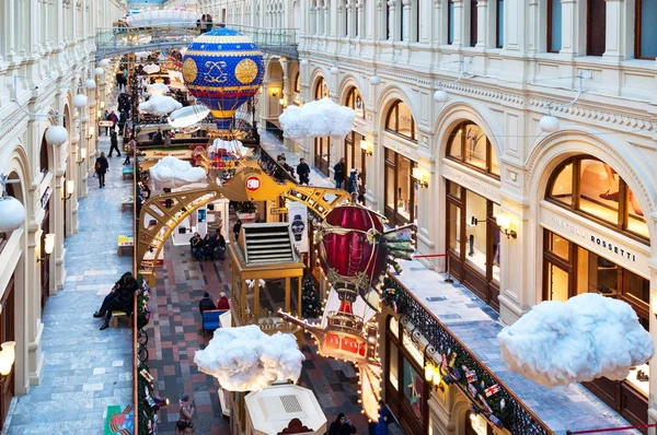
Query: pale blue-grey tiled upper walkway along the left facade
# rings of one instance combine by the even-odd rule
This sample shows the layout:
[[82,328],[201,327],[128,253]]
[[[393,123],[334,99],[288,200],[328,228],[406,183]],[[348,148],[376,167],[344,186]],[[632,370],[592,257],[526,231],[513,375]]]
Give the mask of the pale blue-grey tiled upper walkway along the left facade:
[[[110,149],[101,137],[101,151]],[[110,158],[106,187],[89,178],[79,203],[79,233],[66,239],[65,287],[48,298],[43,317],[41,384],[12,400],[7,434],[102,434],[107,405],[132,403],[131,329],[100,331],[92,314],[114,282],[132,269],[116,255],[119,234],[132,233],[132,215],[120,211],[131,183],[122,179],[123,158]]]

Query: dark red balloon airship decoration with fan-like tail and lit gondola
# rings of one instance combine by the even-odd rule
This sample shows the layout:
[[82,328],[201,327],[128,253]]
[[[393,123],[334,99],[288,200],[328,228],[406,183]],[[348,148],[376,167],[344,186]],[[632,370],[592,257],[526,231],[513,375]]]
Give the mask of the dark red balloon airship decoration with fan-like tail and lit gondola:
[[[388,267],[401,271],[396,259],[413,254],[414,225],[387,231],[385,217],[351,203],[333,209],[315,232],[320,264],[332,286],[322,322],[311,325],[287,313],[285,320],[301,326],[315,337],[322,355],[358,365],[362,404],[370,419],[378,410],[380,360],[378,355],[379,296],[377,284]],[[364,397],[370,395],[368,397]],[[373,395],[373,396],[372,396]]]

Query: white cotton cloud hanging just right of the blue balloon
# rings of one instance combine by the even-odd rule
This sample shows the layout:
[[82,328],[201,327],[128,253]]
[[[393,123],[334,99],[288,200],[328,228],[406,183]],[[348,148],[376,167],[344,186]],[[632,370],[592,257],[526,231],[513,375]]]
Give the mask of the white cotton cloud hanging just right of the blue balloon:
[[301,107],[288,106],[278,117],[290,139],[333,136],[342,138],[351,131],[354,109],[341,106],[331,98],[322,98]]

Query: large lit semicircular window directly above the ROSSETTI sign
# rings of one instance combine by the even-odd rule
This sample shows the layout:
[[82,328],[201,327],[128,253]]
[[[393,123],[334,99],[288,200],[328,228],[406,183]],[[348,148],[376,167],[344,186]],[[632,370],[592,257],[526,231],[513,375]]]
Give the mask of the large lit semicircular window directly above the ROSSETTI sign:
[[545,198],[647,243],[648,225],[636,196],[607,163],[588,155],[563,162],[551,175]]

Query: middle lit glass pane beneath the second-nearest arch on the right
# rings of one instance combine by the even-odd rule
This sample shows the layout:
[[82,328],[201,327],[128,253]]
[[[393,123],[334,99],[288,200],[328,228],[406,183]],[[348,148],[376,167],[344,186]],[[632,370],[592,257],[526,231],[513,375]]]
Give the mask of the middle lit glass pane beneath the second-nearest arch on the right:
[[476,193],[466,193],[466,260],[479,269],[482,274],[486,273],[486,199]]

